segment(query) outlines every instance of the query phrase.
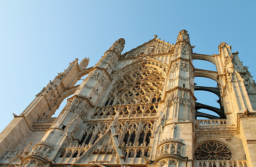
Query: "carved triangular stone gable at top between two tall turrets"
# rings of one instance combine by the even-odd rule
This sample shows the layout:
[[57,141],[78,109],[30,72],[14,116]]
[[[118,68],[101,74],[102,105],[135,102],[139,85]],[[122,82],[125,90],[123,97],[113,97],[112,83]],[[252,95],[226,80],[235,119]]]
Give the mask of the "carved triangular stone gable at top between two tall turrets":
[[150,40],[137,48],[134,48],[130,50],[129,52],[126,52],[125,54],[121,55],[121,58],[130,58],[130,57],[137,57],[137,56],[145,56],[145,55],[153,55],[153,54],[162,54],[162,53],[168,53],[172,52],[174,48],[173,44],[166,43],[164,41],[161,41],[154,38],[153,40]]

